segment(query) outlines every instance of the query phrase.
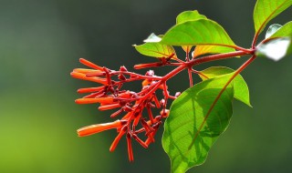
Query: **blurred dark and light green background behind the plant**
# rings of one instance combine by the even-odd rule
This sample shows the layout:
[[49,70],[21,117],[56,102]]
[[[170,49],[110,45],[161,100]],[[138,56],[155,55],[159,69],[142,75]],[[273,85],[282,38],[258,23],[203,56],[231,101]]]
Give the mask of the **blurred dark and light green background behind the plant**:
[[[110,112],[75,105],[77,88],[92,84],[69,72],[82,67],[79,57],[113,69],[154,61],[131,45],[152,32],[165,33],[184,10],[198,9],[223,25],[237,45],[250,46],[254,5],[255,0],[0,0],[0,172],[170,172],[162,128],[149,149],[134,145],[133,164],[124,139],[109,152],[114,130],[77,137],[78,127],[108,122]],[[273,21],[288,20],[291,8]],[[236,68],[245,59],[207,66]],[[258,58],[244,71],[253,108],[235,102],[230,127],[203,166],[189,172],[292,172],[291,66],[291,56],[277,63]],[[172,80],[172,92],[183,90],[186,81],[186,73]]]

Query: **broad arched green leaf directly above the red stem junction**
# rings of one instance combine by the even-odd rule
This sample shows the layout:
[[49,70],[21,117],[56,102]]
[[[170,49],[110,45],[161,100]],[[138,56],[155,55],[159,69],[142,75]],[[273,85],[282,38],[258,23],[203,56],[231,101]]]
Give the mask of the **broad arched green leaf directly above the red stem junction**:
[[162,44],[172,46],[212,45],[227,46],[232,50],[234,42],[221,25],[212,20],[199,19],[174,25],[163,37]]

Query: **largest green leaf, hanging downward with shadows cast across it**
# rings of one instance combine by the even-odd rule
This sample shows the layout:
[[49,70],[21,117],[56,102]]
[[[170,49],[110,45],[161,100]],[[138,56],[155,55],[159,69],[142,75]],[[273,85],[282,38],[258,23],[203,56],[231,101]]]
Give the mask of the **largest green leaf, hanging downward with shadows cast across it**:
[[205,80],[173,101],[162,137],[162,147],[171,158],[173,173],[184,173],[203,164],[216,139],[228,127],[233,113],[232,83],[214,100],[230,77]]

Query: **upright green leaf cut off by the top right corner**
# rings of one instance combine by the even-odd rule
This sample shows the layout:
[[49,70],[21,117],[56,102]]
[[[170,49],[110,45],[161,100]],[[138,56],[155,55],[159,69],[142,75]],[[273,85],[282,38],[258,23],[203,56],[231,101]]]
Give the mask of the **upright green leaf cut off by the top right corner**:
[[254,10],[255,35],[259,35],[266,24],[292,5],[292,0],[257,0]]

